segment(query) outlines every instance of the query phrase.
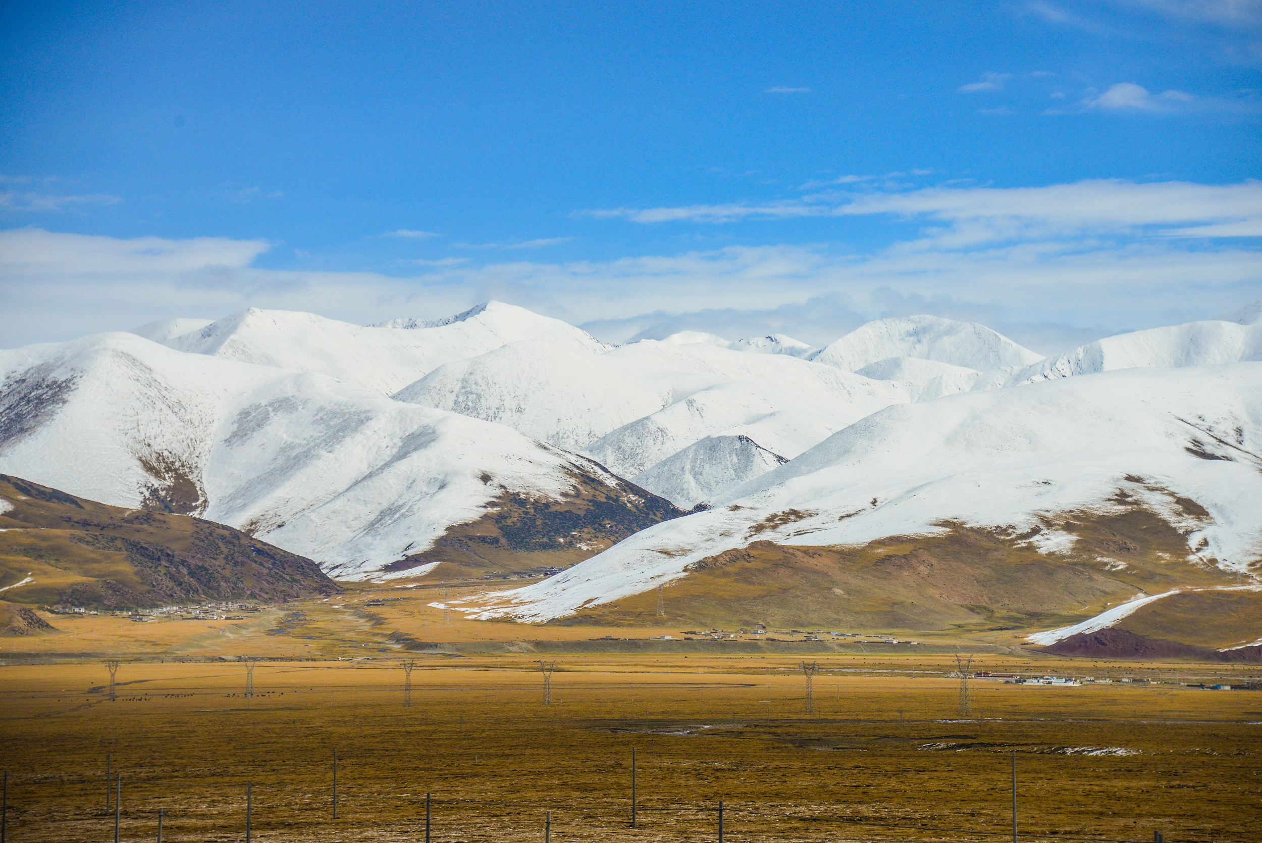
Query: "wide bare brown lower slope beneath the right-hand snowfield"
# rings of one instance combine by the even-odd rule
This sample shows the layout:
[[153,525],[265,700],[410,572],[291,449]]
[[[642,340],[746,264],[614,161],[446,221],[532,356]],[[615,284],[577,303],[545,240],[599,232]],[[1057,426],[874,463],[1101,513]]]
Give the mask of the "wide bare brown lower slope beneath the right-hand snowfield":
[[[1137,592],[1234,581],[1189,564],[1182,534],[1137,507],[1076,514],[1061,525],[1079,539],[1069,555],[1039,553],[1029,534],[946,526],[857,548],[755,541],[727,550],[664,589],[666,620],[724,628],[1036,630],[1075,623]],[[654,591],[554,622],[660,625],[655,610]]]

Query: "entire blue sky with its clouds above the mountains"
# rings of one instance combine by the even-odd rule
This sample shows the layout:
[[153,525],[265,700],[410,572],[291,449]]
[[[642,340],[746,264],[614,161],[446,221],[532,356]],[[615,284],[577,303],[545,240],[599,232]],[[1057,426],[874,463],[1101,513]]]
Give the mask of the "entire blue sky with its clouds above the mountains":
[[0,345],[495,297],[611,341],[1262,298],[1262,3],[10,3]]

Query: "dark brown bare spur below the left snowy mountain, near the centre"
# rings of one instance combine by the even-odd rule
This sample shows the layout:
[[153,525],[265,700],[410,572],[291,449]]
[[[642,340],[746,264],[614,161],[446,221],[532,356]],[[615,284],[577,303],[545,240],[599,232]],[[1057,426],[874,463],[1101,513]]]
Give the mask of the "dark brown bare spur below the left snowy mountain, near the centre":
[[423,553],[391,563],[386,570],[409,570],[430,562],[447,563],[434,578],[564,567],[594,557],[622,539],[684,512],[664,497],[620,480],[570,472],[574,485],[560,500],[533,498],[502,491],[486,515],[457,524]]

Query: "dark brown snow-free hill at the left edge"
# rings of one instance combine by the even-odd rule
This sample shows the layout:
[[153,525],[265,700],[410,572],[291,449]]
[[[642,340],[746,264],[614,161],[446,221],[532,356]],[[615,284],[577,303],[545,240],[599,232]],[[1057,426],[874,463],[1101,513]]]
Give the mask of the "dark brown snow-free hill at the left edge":
[[0,475],[0,588],[19,603],[143,607],[333,594],[319,567],[240,530],[125,510]]

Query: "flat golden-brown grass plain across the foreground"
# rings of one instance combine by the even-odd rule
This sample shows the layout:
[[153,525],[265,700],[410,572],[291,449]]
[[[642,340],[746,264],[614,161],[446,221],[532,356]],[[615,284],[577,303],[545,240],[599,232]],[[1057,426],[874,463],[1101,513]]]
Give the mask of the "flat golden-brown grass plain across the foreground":
[[[143,626],[143,625],[138,625]],[[218,635],[218,634],[216,634]],[[404,655],[404,654],[398,654]],[[0,668],[9,839],[994,840],[1262,839],[1262,693],[974,680],[945,656],[538,656]],[[554,656],[549,656],[551,660]],[[983,669],[1082,663],[982,656]],[[1223,665],[1095,665],[1212,678]],[[631,752],[637,828],[631,829]],[[333,752],[338,815],[333,819]],[[116,782],[110,785],[112,790]],[[112,798],[111,798],[112,799]]]

